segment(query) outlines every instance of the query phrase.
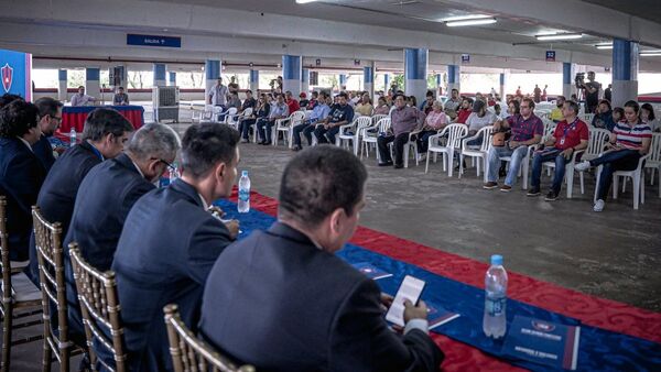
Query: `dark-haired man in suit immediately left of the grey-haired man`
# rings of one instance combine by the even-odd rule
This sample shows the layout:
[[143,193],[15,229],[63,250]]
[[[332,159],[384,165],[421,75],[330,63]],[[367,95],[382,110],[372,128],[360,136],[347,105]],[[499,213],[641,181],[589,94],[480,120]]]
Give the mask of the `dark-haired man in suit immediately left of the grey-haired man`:
[[[36,205],[47,221],[62,223],[63,237],[66,237],[83,178],[95,165],[119,155],[132,131],[133,127],[121,113],[112,109],[96,109],[85,120],[82,142],[53,164]],[[33,240],[30,242],[29,276],[37,284],[39,263]]]

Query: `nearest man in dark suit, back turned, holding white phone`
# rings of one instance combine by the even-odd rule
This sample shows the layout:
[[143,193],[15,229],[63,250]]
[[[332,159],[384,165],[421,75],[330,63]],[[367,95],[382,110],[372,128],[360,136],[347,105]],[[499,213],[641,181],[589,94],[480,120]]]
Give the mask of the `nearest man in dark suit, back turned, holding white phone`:
[[367,171],[334,146],[285,167],[278,222],[228,247],[206,283],[201,335],[258,371],[437,371],[426,306],[404,304],[403,336],[379,286],[333,253],[354,234]]

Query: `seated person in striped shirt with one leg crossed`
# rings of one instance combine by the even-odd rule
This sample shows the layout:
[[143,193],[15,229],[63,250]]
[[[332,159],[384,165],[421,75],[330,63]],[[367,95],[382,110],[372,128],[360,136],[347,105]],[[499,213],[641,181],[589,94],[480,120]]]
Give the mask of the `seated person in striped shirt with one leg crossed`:
[[585,161],[576,165],[576,171],[583,172],[590,166],[603,166],[597,185],[597,203],[594,211],[604,210],[605,200],[616,171],[633,171],[638,167],[638,161],[650,151],[652,142],[652,129],[638,117],[640,106],[636,101],[625,103],[626,122],[617,123],[610,134],[608,146],[610,147],[603,156]]

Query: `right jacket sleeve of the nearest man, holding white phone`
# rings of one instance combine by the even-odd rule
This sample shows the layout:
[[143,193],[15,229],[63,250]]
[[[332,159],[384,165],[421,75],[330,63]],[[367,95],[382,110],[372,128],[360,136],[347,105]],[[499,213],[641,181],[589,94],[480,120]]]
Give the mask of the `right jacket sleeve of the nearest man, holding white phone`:
[[330,371],[438,371],[443,352],[420,330],[400,336],[388,328],[380,291],[366,278],[349,293],[334,319]]

